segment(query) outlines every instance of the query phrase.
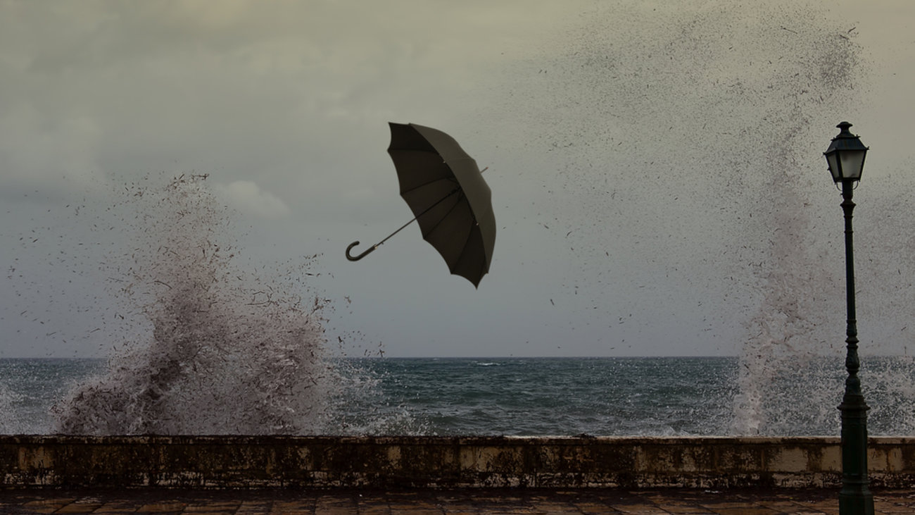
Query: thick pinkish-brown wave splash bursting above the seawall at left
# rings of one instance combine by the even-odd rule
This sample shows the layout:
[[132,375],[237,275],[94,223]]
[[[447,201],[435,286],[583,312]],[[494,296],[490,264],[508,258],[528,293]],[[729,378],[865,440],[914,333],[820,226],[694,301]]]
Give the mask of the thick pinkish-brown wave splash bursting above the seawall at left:
[[[105,375],[53,408],[58,432],[346,431],[334,401],[342,375],[358,371],[331,359],[327,301],[242,268],[231,216],[204,179],[129,184],[106,210],[116,212],[106,225],[128,238],[102,263],[120,310],[106,314],[124,343]],[[300,276],[313,260],[301,260]]]

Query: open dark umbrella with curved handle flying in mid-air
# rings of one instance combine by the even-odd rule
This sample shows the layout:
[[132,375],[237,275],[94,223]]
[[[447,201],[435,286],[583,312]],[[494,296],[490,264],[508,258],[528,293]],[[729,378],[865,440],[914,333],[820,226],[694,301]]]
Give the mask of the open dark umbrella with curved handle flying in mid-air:
[[440,130],[416,124],[390,126],[388,153],[401,196],[415,217],[359,256],[350,255],[359,242],[351,243],[346,257],[358,261],[417,221],[423,238],[445,258],[451,273],[479,287],[479,280],[490,270],[496,218],[490,187],[477,161]]

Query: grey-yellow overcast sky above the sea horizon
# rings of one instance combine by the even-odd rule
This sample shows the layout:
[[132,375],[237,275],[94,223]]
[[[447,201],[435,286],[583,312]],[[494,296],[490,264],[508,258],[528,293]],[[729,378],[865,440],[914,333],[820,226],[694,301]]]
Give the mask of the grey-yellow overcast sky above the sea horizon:
[[[913,22],[908,0],[0,0],[0,356],[104,355],[113,335],[93,331],[118,301],[76,251],[102,236],[75,208],[104,218],[106,192],[182,173],[210,175],[244,266],[309,263],[303,291],[334,302],[328,334],[353,353],[737,355],[759,334],[835,350],[822,151],[845,118],[871,147],[862,349],[908,353]],[[415,226],[345,259],[411,217],[389,121],[490,167],[479,289]],[[135,230],[104,220],[103,237]]]

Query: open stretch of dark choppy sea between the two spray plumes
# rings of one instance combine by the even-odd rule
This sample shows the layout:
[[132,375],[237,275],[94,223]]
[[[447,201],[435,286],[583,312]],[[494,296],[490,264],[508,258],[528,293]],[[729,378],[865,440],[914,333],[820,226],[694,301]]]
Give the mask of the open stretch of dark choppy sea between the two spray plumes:
[[435,434],[727,431],[733,358],[363,360],[386,402]]

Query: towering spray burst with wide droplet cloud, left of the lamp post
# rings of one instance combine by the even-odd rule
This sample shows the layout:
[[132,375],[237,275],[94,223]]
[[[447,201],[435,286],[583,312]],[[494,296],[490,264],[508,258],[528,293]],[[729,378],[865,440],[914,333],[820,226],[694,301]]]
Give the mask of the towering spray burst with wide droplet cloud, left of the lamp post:
[[608,346],[664,327],[670,355],[737,350],[730,433],[837,417],[832,375],[795,371],[842,350],[822,151],[860,104],[855,38],[815,3],[596,3],[505,101],[561,181],[544,212],[576,256],[569,294]]

